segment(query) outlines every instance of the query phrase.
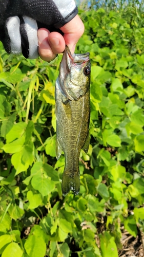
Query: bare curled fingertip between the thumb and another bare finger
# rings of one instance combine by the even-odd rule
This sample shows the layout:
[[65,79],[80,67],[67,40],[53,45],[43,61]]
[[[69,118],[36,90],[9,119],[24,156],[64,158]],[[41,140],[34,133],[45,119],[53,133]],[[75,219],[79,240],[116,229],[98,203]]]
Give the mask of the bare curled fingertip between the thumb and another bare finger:
[[48,37],[49,45],[54,53],[61,53],[65,50],[66,43],[63,35],[58,32],[51,32]]

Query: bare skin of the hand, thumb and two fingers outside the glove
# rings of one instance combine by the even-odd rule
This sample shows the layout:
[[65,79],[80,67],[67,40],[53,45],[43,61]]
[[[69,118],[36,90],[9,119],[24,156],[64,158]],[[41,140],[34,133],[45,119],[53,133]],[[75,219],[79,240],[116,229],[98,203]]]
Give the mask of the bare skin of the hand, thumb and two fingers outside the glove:
[[57,53],[65,50],[66,45],[73,54],[75,45],[83,35],[84,29],[84,24],[78,15],[60,28],[64,35],[58,32],[50,32],[45,28],[38,29],[38,52],[40,58],[44,61],[53,60]]

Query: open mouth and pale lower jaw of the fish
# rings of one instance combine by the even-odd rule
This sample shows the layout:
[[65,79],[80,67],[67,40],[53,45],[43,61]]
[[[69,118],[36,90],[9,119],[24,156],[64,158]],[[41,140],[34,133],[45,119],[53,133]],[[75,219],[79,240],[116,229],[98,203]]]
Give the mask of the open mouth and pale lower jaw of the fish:
[[71,51],[68,46],[66,46],[63,54],[63,58],[60,63],[60,72],[59,72],[59,85],[60,89],[69,100],[74,100],[65,88],[64,80],[70,72],[70,69],[73,65],[76,65],[78,69],[81,69],[85,63],[90,60],[90,53],[78,53],[71,54]]

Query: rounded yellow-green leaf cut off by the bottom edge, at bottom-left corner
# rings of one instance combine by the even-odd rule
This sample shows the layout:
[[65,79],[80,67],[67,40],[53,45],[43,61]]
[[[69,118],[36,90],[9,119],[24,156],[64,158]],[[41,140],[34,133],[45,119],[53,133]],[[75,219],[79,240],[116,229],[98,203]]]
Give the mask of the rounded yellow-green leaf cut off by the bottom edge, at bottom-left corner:
[[2,253],[2,257],[22,257],[23,251],[17,243],[10,243]]

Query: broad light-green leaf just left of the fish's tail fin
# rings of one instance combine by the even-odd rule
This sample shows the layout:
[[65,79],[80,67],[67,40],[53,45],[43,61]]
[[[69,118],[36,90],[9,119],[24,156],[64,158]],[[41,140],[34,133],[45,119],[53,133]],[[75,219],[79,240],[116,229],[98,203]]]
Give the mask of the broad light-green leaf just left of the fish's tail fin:
[[55,188],[55,183],[43,176],[34,175],[31,180],[31,185],[38,190],[43,196],[50,194]]

